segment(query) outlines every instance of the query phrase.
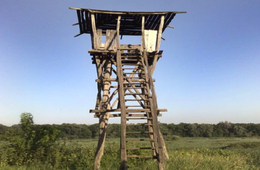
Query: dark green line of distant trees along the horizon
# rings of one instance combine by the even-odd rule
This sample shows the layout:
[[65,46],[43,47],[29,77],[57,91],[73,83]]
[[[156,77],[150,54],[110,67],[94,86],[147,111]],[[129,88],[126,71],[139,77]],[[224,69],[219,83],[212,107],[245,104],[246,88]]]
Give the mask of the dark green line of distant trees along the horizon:
[[[83,139],[98,137],[98,123],[95,124],[34,124],[40,133],[55,131],[59,139]],[[217,124],[207,123],[160,123],[160,131],[166,139],[179,137],[249,137],[260,136],[260,123],[231,123],[221,121]],[[21,124],[5,126],[0,124],[0,139],[10,131],[17,131]],[[129,131],[145,131],[145,126],[129,126]],[[137,134],[133,134],[137,135]],[[140,135],[140,134],[138,134]],[[108,138],[120,137],[120,124],[108,124]]]

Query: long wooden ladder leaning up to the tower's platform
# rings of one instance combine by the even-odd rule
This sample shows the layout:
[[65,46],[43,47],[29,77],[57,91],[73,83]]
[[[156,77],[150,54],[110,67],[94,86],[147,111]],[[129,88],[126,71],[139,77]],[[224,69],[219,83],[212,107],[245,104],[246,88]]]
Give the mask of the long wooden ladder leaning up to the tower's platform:
[[153,83],[147,55],[145,51],[133,48],[119,48],[116,52],[121,108],[121,169],[127,169],[126,160],[131,158],[154,158],[158,168],[164,169],[157,122],[160,114],[154,88],[151,89]]

